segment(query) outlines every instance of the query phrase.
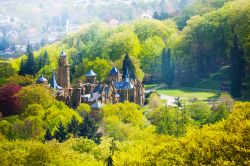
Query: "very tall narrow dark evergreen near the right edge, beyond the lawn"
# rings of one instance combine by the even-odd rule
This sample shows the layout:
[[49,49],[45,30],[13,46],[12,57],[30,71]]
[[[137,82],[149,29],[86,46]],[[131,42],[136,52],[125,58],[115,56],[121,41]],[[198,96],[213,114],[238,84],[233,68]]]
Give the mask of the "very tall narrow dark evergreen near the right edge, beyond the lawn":
[[236,33],[233,32],[233,47],[231,49],[231,95],[234,98],[241,97],[242,80],[245,76],[244,69],[243,50]]

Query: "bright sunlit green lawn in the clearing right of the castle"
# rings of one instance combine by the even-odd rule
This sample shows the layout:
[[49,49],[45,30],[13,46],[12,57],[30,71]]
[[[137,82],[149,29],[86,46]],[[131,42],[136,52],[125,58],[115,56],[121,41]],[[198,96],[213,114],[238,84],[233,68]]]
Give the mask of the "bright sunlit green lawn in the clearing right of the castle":
[[220,95],[220,91],[216,90],[186,88],[186,87],[181,87],[178,89],[159,89],[156,91],[159,94],[165,94],[168,96],[180,97],[185,99],[197,98],[199,100],[208,100],[211,98],[217,98]]

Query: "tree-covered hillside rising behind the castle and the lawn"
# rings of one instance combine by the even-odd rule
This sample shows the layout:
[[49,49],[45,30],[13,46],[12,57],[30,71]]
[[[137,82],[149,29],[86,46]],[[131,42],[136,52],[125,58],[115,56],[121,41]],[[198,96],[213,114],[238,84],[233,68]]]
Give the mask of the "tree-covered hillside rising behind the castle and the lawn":
[[[105,73],[111,66],[121,70],[122,59],[128,53],[139,79],[160,81],[164,80],[161,77],[161,55],[164,48],[170,48],[175,67],[174,83],[194,85],[210,79],[225,66],[232,65],[233,38],[236,36],[244,60],[242,70],[246,73],[245,77],[240,78],[245,92],[243,95],[249,97],[250,3],[247,0],[226,2],[201,3],[197,0],[189,4],[199,12],[190,15],[181,30],[178,30],[178,18],[175,17],[166,20],[139,19],[118,27],[100,22],[89,24],[61,42],[35,52],[35,71],[38,72],[37,76],[44,73],[48,78],[52,70],[57,68],[57,57],[64,50],[69,55],[73,82],[83,79],[84,73],[90,68],[96,70],[99,79],[105,80]],[[44,55],[46,61],[51,63],[43,62]],[[21,59],[12,61],[16,71],[22,64]],[[232,70],[231,73],[234,72]],[[222,78],[212,78],[214,81],[210,84],[214,86],[211,88],[220,87],[222,82],[230,87],[231,76],[222,75]]]

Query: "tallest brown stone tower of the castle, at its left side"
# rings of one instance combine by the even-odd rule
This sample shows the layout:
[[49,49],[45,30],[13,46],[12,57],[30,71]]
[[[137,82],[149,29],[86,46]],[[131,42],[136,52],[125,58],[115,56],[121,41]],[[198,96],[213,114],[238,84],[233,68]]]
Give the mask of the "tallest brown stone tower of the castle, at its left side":
[[58,62],[58,84],[65,89],[70,88],[70,70],[67,54],[62,51]]

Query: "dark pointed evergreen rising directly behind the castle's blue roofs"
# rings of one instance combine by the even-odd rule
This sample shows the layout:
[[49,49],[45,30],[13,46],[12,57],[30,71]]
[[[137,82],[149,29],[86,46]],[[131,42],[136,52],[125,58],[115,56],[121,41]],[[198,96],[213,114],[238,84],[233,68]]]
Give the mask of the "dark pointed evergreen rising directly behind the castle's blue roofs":
[[123,79],[125,79],[125,73],[126,73],[127,68],[128,68],[130,78],[136,79],[135,66],[132,60],[130,59],[128,53],[126,53],[125,58],[123,60],[123,66],[122,66],[122,72],[123,72],[122,78]]

